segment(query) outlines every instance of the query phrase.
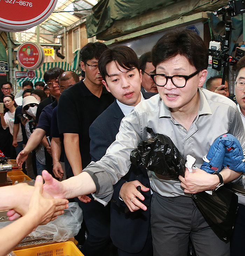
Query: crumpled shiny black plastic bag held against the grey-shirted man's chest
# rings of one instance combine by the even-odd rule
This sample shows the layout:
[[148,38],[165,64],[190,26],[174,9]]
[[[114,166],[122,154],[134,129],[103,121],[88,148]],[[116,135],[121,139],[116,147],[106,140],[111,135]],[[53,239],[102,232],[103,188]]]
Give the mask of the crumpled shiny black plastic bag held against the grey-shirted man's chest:
[[184,177],[185,160],[172,140],[163,134],[153,133],[151,128],[147,127],[146,131],[154,137],[143,140],[137,149],[131,152],[132,164],[142,165],[150,171],[172,179],[179,179],[179,175]]

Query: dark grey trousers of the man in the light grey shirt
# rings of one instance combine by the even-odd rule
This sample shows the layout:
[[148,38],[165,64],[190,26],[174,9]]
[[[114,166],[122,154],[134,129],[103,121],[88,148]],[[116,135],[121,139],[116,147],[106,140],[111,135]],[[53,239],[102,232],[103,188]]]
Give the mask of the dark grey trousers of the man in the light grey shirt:
[[230,255],[230,243],[215,235],[190,197],[153,193],[151,226],[154,256],[186,256],[189,237],[197,256]]

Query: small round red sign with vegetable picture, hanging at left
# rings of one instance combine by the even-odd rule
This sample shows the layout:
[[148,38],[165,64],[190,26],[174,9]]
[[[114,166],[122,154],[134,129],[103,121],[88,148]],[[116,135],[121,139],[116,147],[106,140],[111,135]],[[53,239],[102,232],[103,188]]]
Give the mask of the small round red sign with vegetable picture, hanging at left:
[[17,59],[21,67],[26,69],[36,69],[43,62],[44,52],[41,46],[26,42],[19,46],[17,51]]

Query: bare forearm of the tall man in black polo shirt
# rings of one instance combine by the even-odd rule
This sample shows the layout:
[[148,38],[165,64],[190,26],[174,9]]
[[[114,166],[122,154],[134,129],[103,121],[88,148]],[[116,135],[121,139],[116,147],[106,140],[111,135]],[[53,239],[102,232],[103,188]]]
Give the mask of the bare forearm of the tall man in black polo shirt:
[[82,172],[82,158],[79,149],[79,134],[64,133],[65,155],[71,165],[74,176]]

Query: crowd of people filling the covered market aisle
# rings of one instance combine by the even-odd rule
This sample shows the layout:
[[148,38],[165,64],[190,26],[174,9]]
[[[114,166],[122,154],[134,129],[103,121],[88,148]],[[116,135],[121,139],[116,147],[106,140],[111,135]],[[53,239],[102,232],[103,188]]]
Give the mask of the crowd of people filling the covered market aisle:
[[[208,51],[188,29],[166,33],[139,59],[130,47],[95,42],[80,50],[80,60],[84,79],[50,68],[43,77],[49,96],[44,84],[33,90],[25,81],[17,108],[12,85],[3,84],[0,132],[9,127],[18,166],[30,177],[42,175],[45,193],[78,202],[87,229],[83,254],[186,256],[191,240],[197,256],[243,255],[241,173],[224,168],[213,175],[198,168],[222,134],[234,135],[245,151],[245,57],[237,64],[237,105],[221,77],[202,88]],[[197,169],[175,180],[131,165],[131,151],[149,136],[146,127],[171,138],[183,157],[195,157]],[[233,180],[241,191],[239,209],[231,243],[225,243],[189,195]],[[31,196],[34,188],[28,190]],[[23,215],[13,207],[9,218],[16,213]]]

